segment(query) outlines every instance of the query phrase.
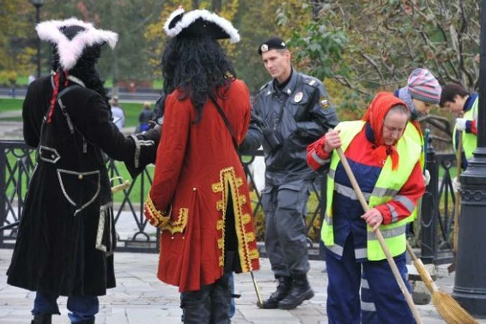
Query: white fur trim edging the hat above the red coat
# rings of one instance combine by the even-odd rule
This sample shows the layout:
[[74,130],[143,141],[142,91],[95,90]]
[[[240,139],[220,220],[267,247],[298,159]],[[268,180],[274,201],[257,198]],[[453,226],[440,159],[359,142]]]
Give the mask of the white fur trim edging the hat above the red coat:
[[177,36],[182,31],[182,29],[188,27],[190,24],[192,24],[198,18],[203,18],[203,20],[210,21],[210,22],[217,24],[225,32],[227,32],[228,35],[230,36],[230,38],[229,38],[230,43],[238,43],[239,42],[238,30],[233,27],[231,22],[229,22],[228,20],[224,19],[223,17],[220,17],[217,14],[209,12],[205,9],[198,9],[198,10],[189,11],[188,13],[184,14],[184,16],[182,16],[182,19],[179,20],[173,28],[169,29],[169,24],[172,21],[172,19],[174,19],[177,15],[180,15],[182,12],[184,12],[183,9],[182,9],[182,11],[181,11],[181,9],[174,11],[169,16],[166,23],[164,24],[164,30],[169,37]]

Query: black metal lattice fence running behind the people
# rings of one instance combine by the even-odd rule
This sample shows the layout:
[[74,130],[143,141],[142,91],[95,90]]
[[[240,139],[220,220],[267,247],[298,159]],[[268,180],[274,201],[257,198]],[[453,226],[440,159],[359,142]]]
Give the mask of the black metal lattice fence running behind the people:
[[[15,244],[19,221],[30,175],[35,167],[35,151],[23,141],[0,141],[0,248],[11,248]],[[254,190],[252,206],[254,215],[262,215],[261,193],[256,186],[255,175],[250,172],[250,164],[256,156],[263,156],[263,151],[256,151],[251,158],[244,158],[244,168],[249,184]],[[427,169],[431,181],[423,197],[420,217],[419,244],[425,263],[446,263],[452,260],[452,230],[454,222],[454,194],[452,190],[451,168],[455,166],[454,154],[436,153],[429,145]],[[123,175],[120,164],[109,161],[109,175],[115,182]],[[124,167],[123,167],[124,168]],[[153,167],[133,179],[131,186],[118,193],[114,205],[115,224],[118,237],[118,251],[156,252],[158,233],[147,223],[143,215],[143,201],[152,183]],[[440,177],[439,177],[440,176]],[[117,183],[114,183],[117,184]],[[319,178],[312,186],[317,204],[308,210],[306,233],[310,247],[318,247],[319,221],[325,211],[326,183]],[[121,198],[120,198],[121,196]],[[317,225],[316,225],[317,224]],[[311,233],[312,232],[312,233]],[[317,233],[316,233],[317,232]],[[312,237],[312,238],[310,238]]]

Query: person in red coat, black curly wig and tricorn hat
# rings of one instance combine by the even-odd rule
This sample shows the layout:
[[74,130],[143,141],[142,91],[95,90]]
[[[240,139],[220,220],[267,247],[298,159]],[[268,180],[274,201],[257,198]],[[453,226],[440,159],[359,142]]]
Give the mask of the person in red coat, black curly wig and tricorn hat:
[[185,323],[228,323],[232,271],[259,268],[245,172],[236,147],[250,93],[216,39],[239,41],[206,10],[175,11],[162,58],[163,133],[145,215],[160,228],[157,276],[179,287]]

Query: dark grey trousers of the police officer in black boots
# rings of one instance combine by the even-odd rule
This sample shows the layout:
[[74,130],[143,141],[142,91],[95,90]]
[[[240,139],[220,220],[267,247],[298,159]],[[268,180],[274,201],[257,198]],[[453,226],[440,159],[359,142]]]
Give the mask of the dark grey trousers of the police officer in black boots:
[[310,185],[309,180],[298,180],[262,192],[265,250],[275,277],[309,271],[304,216]]

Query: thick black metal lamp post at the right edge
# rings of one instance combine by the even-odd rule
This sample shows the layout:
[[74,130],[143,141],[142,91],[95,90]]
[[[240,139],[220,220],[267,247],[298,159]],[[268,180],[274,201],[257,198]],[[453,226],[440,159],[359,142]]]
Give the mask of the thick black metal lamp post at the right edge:
[[461,174],[461,214],[453,297],[486,317],[486,0],[481,1],[477,149]]

